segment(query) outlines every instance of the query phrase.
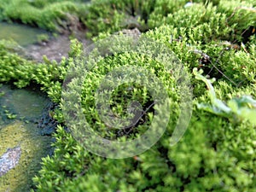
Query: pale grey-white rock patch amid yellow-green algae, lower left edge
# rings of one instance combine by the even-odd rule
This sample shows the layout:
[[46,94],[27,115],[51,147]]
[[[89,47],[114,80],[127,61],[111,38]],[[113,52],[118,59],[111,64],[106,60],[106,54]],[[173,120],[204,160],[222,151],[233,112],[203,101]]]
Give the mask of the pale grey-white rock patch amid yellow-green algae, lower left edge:
[[8,148],[7,151],[0,157],[0,177],[15,168],[20,160],[21,148]]

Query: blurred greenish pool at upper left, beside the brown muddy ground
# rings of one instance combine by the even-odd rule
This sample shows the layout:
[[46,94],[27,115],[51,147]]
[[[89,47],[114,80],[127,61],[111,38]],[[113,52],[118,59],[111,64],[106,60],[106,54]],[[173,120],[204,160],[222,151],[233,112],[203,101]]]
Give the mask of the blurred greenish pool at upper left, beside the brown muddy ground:
[[21,46],[26,46],[37,43],[41,35],[47,35],[47,32],[31,26],[0,22],[0,40],[12,39]]

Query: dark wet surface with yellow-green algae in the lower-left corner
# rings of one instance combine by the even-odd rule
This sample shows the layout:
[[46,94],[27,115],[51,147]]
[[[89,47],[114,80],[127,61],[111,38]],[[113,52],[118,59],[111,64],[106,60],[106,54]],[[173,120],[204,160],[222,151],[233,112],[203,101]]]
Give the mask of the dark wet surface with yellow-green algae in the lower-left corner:
[[11,89],[9,85],[0,88],[0,95],[0,158],[10,150],[15,153],[15,148],[21,150],[20,156],[15,155],[20,157],[16,159],[19,163],[6,174],[2,170],[0,191],[26,192],[32,188],[32,177],[40,170],[41,159],[51,150],[52,137],[42,136],[36,124],[49,100],[35,90]]

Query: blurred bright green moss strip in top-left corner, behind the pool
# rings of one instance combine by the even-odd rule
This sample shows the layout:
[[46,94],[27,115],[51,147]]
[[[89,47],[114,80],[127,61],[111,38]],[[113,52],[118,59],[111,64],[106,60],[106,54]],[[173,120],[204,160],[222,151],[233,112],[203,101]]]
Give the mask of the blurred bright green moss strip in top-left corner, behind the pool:
[[76,2],[78,1],[3,0],[0,5],[0,20],[61,32],[61,28],[67,30],[68,25],[71,25],[73,16],[84,12],[84,6]]

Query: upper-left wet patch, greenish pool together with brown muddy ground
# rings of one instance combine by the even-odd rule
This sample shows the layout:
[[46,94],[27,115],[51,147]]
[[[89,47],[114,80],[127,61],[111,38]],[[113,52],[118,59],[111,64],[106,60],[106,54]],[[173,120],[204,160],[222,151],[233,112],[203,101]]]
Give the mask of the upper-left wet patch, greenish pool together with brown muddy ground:
[[[77,22],[79,20],[74,23],[77,24]],[[20,51],[20,55],[38,62],[44,62],[44,55],[49,61],[58,62],[62,57],[67,57],[70,49],[69,33],[54,38],[48,32],[38,28],[0,22],[0,40],[15,40],[24,48]],[[79,31],[77,26],[74,26],[72,33],[73,38],[78,38],[84,47],[91,44],[91,41],[85,38],[85,31]],[[43,38],[43,40],[42,37],[46,39]]]

